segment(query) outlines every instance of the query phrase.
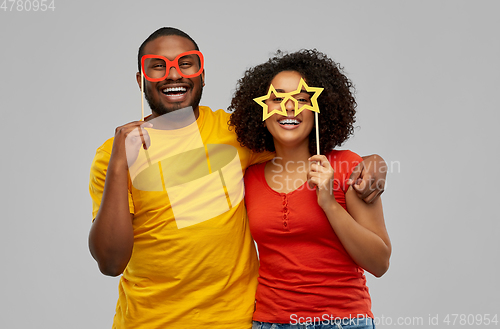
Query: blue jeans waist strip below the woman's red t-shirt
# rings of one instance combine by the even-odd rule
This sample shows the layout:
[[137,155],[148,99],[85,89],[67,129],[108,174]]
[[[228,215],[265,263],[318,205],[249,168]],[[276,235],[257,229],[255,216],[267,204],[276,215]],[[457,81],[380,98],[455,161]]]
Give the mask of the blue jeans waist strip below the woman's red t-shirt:
[[253,321],[252,329],[375,329],[372,318],[354,318],[345,320],[323,320],[312,323],[267,323]]

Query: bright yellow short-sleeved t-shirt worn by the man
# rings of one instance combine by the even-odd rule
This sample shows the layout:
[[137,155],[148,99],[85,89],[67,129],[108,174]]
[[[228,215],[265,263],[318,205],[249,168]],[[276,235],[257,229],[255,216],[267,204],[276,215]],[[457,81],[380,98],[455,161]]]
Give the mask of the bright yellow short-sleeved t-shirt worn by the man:
[[[199,109],[189,127],[147,129],[149,153],[141,150],[129,169],[134,248],[113,328],[251,327],[258,259],[242,174],[272,155],[241,147],[228,113]],[[111,138],[98,148],[92,163],[93,218],[112,145]]]

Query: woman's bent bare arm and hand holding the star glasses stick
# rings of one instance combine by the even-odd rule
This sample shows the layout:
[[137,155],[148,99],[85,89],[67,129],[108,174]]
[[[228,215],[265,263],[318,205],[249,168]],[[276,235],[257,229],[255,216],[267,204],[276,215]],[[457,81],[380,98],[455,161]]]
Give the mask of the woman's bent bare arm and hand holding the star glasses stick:
[[389,268],[391,242],[385,228],[380,198],[367,204],[349,188],[346,193],[348,212],[335,200],[330,182],[333,168],[323,155],[310,158],[315,161],[309,173],[309,185],[317,187],[318,204],[351,258],[376,277]]

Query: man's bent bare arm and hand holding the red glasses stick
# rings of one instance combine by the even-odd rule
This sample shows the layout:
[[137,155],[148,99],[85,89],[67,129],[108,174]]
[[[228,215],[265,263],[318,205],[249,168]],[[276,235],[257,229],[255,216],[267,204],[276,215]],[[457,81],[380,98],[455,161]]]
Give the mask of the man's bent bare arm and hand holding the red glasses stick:
[[142,130],[140,136],[141,129],[136,129],[141,125],[150,124],[138,121],[116,128],[101,204],[90,229],[90,253],[105,275],[120,275],[132,255],[134,230],[128,202],[128,167],[135,161],[143,141],[147,147],[150,143],[147,132]]

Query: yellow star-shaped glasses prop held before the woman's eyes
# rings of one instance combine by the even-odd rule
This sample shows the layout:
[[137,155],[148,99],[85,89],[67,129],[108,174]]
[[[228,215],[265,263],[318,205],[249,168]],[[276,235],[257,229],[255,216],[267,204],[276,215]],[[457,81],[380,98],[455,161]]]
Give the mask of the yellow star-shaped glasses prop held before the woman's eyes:
[[[285,105],[288,102],[288,100],[291,100],[294,105],[295,105],[295,115],[297,116],[300,112],[303,110],[311,110],[313,112],[319,113],[319,106],[318,106],[318,97],[323,91],[324,88],[319,88],[319,87],[309,87],[307,83],[304,81],[303,78],[300,78],[299,86],[297,87],[296,90],[289,92],[289,93],[279,93],[276,91],[273,85],[269,87],[269,91],[267,92],[267,95],[261,96],[254,98],[253,100],[262,106],[263,112],[262,112],[262,121],[265,121],[267,118],[272,116],[273,114],[280,114],[283,116],[287,116],[286,113],[286,108]],[[311,105],[304,104],[299,107],[299,102],[294,95],[298,95],[302,93],[303,91],[306,91],[308,93],[314,93],[311,97]],[[269,106],[266,104],[266,101],[271,98],[271,94],[274,94],[276,98],[283,98],[283,100],[280,103],[280,109],[274,109],[271,112],[269,112]]]

